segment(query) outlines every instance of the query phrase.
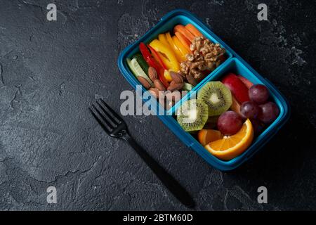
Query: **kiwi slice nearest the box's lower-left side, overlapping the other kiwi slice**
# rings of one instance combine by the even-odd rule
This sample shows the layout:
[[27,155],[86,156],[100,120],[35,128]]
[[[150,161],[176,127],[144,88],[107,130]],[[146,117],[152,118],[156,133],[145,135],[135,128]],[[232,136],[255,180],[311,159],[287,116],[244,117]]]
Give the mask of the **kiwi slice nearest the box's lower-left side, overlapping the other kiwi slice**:
[[191,132],[203,129],[208,118],[208,106],[197,99],[186,101],[177,111],[177,121],[185,131]]

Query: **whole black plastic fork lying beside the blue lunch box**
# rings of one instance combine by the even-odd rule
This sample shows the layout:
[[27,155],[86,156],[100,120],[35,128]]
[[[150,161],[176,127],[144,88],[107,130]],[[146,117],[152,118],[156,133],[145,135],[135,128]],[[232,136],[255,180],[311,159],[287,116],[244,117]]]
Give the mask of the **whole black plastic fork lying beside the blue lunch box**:
[[121,119],[117,113],[110,108],[103,99],[99,99],[96,101],[96,104],[92,104],[91,108],[89,108],[93,117],[96,118],[101,127],[105,130],[105,132],[117,139],[124,139],[129,143],[129,145],[136,150],[136,153],[144,160],[152,172],[158,176],[158,178],[162,181],[162,184],[166,186],[171,193],[181,202],[183,205],[187,207],[194,207],[195,202],[185,191],[176,179],[171,176],[163,167],[161,167],[158,162],[156,162],[148,153],[141,148],[136,141],[129,135],[127,130],[126,123]]

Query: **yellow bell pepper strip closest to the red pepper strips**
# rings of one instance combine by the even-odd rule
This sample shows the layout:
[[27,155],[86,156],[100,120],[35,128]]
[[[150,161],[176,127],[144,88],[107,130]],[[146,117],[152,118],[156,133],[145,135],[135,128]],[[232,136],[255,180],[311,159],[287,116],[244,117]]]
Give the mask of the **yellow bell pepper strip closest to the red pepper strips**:
[[175,53],[173,53],[173,51],[171,51],[171,49],[166,47],[157,39],[154,39],[152,42],[150,42],[150,46],[152,46],[155,51],[162,53],[160,56],[162,56],[163,61],[170,62],[171,67],[169,68],[169,70],[172,70],[174,72],[178,72],[180,70],[180,65],[178,63],[176,55]]

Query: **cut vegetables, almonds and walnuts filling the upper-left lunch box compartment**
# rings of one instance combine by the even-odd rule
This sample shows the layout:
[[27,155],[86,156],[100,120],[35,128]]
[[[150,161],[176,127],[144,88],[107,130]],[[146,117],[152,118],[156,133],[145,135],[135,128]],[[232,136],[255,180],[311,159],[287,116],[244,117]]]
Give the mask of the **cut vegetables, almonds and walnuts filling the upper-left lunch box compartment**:
[[[176,25],[126,62],[140,84],[156,98],[159,91],[190,91],[225,60],[225,49],[206,39],[192,24]],[[168,96],[168,95],[166,95]],[[171,99],[172,106],[180,98]]]

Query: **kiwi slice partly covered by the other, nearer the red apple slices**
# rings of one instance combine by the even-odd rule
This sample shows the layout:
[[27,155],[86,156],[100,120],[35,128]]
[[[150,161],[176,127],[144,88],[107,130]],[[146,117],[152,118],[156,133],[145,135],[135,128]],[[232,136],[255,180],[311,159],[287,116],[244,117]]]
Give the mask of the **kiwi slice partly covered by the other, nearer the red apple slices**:
[[207,82],[197,92],[197,99],[209,106],[209,116],[220,115],[232,105],[232,93],[222,82]]

